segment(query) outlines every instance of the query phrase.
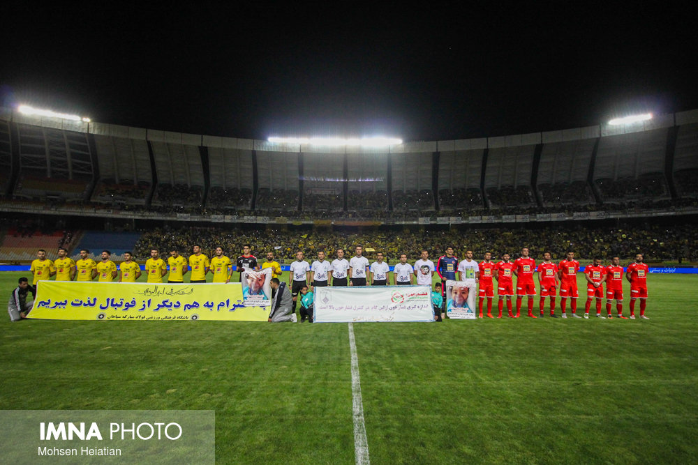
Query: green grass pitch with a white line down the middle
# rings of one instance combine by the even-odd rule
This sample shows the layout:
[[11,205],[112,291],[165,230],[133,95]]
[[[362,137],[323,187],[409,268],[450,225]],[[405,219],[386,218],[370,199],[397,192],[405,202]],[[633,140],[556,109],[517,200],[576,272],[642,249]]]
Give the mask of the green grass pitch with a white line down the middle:
[[[355,324],[371,462],[698,462],[698,277],[648,287],[649,321]],[[0,321],[2,409],[214,409],[219,463],[355,462],[346,323]]]

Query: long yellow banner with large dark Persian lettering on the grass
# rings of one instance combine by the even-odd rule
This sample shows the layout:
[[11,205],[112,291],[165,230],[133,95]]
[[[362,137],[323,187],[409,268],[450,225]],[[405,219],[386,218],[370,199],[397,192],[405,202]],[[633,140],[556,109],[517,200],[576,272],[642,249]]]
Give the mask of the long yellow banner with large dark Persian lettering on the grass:
[[40,281],[34,308],[27,317],[58,320],[267,321],[269,310],[269,306],[247,306],[239,282],[146,284]]

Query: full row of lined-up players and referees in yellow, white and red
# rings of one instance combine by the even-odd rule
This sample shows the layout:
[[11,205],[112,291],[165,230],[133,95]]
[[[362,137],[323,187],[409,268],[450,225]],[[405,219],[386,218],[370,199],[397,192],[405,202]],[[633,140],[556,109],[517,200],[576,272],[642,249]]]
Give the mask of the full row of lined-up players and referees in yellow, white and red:
[[[151,249],[151,257],[145,263],[147,282],[163,282],[163,277],[168,274],[168,282],[184,282],[184,275],[191,267],[190,282],[206,282],[207,273],[213,274],[213,282],[230,282],[234,271],[243,269],[260,270],[272,268],[272,277],[279,277],[282,274],[281,264],[274,259],[274,252],[267,252],[266,261],[260,266],[257,258],[251,254],[251,246],[244,245],[243,254],[237,258],[236,264],[223,254],[222,247],[216,247],[215,256],[210,260],[201,252],[200,245],[194,245],[193,254],[187,260],[179,254],[176,249],[170,250],[170,257],[167,263],[159,256],[158,249]],[[39,250],[38,258],[31,264],[31,273],[34,275],[36,284],[39,280],[56,277],[56,280],[68,281],[91,281],[98,277],[98,281],[110,282],[119,276],[119,282],[135,282],[141,275],[140,266],[133,261],[131,252],[124,254],[125,260],[117,267],[110,260],[110,252],[104,250],[101,254],[101,261],[96,263],[89,258],[89,250],[80,251],[80,259],[73,261],[68,257],[68,251],[59,249],[58,259],[51,261],[46,258],[45,250]],[[389,265],[384,261],[383,254],[378,252],[376,261],[369,265],[369,260],[363,256],[363,247],[355,247],[355,256],[350,260],[344,258],[344,250],[336,251],[336,259],[332,262],[326,259],[325,252],[318,252],[318,258],[309,264],[304,260],[304,253],[298,251],[296,260],[290,265],[288,282],[292,285],[292,296],[295,302],[297,294],[303,284],[311,283],[312,287],[322,286],[373,286],[389,284]],[[445,292],[443,284],[447,280],[461,280],[477,282],[479,287],[479,316],[483,317],[483,304],[487,299],[487,317],[493,318],[491,313],[494,288],[497,287],[499,304],[498,317],[502,317],[503,305],[506,301],[508,314],[512,318],[520,317],[521,305],[524,296],[528,296],[528,316],[535,318],[533,314],[533,298],[537,294],[533,276],[537,274],[540,286],[540,315],[544,315],[545,299],[550,299],[550,315],[556,317],[556,296],[560,294],[560,310],[563,318],[567,318],[566,303],[567,298],[571,299],[570,307],[572,316],[578,317],[577,298],[577,273],[581,269],[579,261],[574,259],[574,252],[567,252],[567,257],[555,264],[551,261],[551,254],[544,253],[543,261],[536,266],[535,259],[529,257],[529,250],[523,247],[521,257],[511,261],[510,254],[502,254],[501,260],[492,261],[491,252],[484,254],[484,259],[477,263],[473,260],[473,252],[466,251],[466,259],[459,261],[454,256],[453,247],[446,247],[445,254],[439,257],[436,264],[429,259],[429,251],[422,250],[421,257],[415,264],[409,264],[407,255],[401,254],[400,261],[392,270],[392,284],[395,285],[429,285],[431,286],[433,275],[437,273],[442,281],[440,293]],[[120,275],[119,273],[120,272]],[[456,275],[457,273],[457,275]],[[644,264],[643,255],[637,254],[634,262],[626,269],[620,264],[619,257],[612,257],[609,266],[602,266],[602,260],[595,258],[593,264],[584,269],[584,278],[587,282],[587,301],[584,317],[588,318],[589,310],[593,300],[596,300],[596,315],[601,315],[602,298],[604,297],[604,283],[607,284],[606,310],[607,317],[612,317],[612,301],[616,300],[617,316],[625,318],[623,309],[623,279],[630,282],[630,318],[634,319],[635,300],[640,300],[640,317],[648,319],[645,315],[647,284],[646,277],[648,266]],[[516,314],[512,309],[512,296],[514,296],[513,277],[516,282]],[[496,281],[496,286],[495,286]],[[457,288],[454,288],[457,289]],[[440,315],[443,317],[443,313]]]

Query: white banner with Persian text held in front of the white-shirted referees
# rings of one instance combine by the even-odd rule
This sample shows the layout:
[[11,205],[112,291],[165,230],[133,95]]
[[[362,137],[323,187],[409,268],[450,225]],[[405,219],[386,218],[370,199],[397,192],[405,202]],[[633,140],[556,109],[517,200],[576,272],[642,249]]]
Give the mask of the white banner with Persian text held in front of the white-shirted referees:
[[315,287],[315,323],[433,320],[429,286]]

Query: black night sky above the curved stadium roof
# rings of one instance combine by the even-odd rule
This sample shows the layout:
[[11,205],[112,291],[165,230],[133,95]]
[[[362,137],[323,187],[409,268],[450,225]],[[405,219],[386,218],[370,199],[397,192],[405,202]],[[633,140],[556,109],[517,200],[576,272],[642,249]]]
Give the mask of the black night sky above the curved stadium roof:
[[496,3],[12,2],[2,105],[205,135],[406,141],[698,108],[690,3]]

